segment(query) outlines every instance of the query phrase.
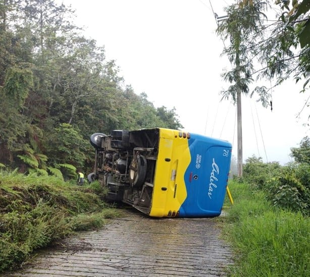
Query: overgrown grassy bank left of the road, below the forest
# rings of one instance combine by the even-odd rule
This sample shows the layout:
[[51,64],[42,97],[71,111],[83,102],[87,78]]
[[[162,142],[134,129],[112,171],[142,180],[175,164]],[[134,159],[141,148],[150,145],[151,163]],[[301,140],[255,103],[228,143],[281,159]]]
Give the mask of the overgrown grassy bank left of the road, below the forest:
[[0,272],[39,248],[120,215],[94,192],[56,177],[0,172]]

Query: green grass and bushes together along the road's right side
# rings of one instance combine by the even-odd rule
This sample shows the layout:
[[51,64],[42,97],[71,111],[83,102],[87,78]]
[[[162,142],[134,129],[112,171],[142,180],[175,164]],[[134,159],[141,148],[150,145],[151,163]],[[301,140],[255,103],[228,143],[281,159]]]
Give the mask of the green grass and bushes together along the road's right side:
[[[250,157],[230,181],[234,205],[224,233],[234,250],[230,276],[310,275],[310,139],[281,166]],[[228,202],[228,199],[226,199]]]

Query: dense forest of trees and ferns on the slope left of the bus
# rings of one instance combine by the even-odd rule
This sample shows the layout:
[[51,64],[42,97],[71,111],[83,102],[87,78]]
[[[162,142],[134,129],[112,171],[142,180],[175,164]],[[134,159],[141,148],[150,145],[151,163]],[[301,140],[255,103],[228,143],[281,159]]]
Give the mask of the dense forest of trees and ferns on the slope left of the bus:
[[0,166],[64,175],[91,168],[92,133],[181,126],[124,84],[105,48],[54,0],[0,1]]

